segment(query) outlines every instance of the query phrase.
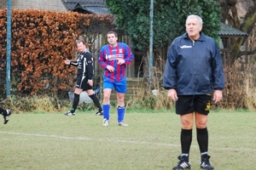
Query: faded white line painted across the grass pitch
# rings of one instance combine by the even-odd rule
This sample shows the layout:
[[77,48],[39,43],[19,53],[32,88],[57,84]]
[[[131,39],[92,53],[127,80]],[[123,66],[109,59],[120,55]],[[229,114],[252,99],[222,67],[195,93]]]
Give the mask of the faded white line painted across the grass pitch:
[[[89,137],[67,137],[67,136],[58,136],[58,135],[47,135],[47,134],[40,134],[40,133],[15,133],[15,132],[5,132],[0,131],[0,133],[6,134],[15,134],[20,136],[36,136],[36,137],[46,137],[46,138],[54,138],[54,139],[79,139],[79,140],[94,140],[94,141],[108,141],[108,142],[119,142],[119,143],[129,143],[129,144],[155,144],[155,145],[167,145],[173,147],[180,147],[180,144],[166,144],[166,143],[154,143],[154,142],[147,142],[147,141],[132,141],[132,140],[125,140],[125,139],[93,139]],[[197,145],[191,145],[191,147],[198,147]],[[256,151],[250,148],[214,148],[209,147],[213,150],[242,150],[242,151]]]

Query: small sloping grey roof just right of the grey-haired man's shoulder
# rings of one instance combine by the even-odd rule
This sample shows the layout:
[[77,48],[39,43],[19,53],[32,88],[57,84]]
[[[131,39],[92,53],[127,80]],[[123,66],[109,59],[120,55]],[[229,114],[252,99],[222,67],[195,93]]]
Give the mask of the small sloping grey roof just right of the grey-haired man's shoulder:
[[220,23],[221,30],[218,31],[218,36],[249,36],[246,32],[237,30],[232,26],[225,25],[224,23]]

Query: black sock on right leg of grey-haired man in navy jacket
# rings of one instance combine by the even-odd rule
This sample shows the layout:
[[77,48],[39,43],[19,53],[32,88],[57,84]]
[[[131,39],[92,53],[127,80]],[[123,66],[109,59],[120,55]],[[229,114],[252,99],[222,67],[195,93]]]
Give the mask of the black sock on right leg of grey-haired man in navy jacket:
[[201,153],[208,151],[208,130],[206,128],[196,128],[197,142]]

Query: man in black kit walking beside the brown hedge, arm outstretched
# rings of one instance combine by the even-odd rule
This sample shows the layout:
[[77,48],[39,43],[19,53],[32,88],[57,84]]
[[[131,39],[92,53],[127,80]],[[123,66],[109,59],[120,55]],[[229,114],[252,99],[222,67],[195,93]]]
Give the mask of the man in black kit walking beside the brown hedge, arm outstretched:
[[96,97],[92,89],[92,78],[94,74],[93,57],[90,54],[89,50],[86,48],[83,38],[79,37],[79,39],[76,40],[76,43],[79,51],[79,58],[75,61],[71,61],[69,59],[66,59],[64,61],[66,65],[74,65],[79,67],[77,75],[77,85],[74,91],[73,108],[71,111],[67,111],[64,115],[75,116],[75,111],[77,109],[77,106],[79,105],[80,94],[83,91],[86,91],[90,99],[92,99],[93,103],[99,109],[99,111],[96,112],[96,115],[102,116],[102,105],[100,104],[99,99]]

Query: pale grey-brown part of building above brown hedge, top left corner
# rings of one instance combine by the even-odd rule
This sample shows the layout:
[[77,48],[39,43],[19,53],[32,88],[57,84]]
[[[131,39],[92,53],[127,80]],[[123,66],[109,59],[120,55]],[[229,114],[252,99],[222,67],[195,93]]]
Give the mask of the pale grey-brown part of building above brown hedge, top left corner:
[[[0,0],[0,9],[7,7],[8,0]],[[57,12],[67,11],[61,0],[12,0],[12,8],[38,8],[43,10],[54,10]]]

